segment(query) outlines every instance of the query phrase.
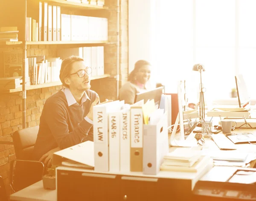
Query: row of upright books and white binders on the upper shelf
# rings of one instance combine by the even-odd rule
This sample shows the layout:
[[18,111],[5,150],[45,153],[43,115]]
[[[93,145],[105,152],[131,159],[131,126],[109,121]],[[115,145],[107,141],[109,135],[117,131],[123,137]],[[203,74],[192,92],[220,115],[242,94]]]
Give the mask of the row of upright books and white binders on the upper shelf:
[[61,7],[38,2],[39,12],[28,11],[27,41],[108,40],[108,19],[61,14]]

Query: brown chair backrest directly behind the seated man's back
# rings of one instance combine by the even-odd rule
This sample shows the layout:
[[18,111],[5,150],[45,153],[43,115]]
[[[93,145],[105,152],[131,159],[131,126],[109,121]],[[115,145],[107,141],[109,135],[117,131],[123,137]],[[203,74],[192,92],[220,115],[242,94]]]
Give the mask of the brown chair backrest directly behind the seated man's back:
[[38,130],[39,126],[33,126],[17,130],[13,133],[12,139],[16,159],[32,160],[32,152],[34,150]]

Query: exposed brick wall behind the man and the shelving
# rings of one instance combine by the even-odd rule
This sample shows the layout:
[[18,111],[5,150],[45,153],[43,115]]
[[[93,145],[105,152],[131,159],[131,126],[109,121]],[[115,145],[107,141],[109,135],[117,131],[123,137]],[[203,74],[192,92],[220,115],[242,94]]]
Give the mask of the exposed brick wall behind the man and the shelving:
[[[105,73],[116,75],[116,0],[106,0],[110,8],[108,20],[108,40],[111,44],[105,45]],[[128,0],[120,0],[119,19],[119,74],[120,85],[126,81],[128,75]],[[57,57],[57,45],[28,45],[27,56],[46,55]],[[9,48],[12,49],[12,48]],[[3,63],[3,50],[0,49],[0,64]],[[0,76],[3,69],[0,68]],[[92,90],[96,91],[101,99],[116,99],[116,79],[105,78],[91,81]],[[56,93],[62,86],[40,88],[27,91],[26,97],[26,127],[39,125],[39,119],[45,100]],[[12,133],[22,129],[22,98],[20,93],[0,94],[0,141],[12,141]],[[11,192],[9,186],[10,162],[15,159],[13,145],[0,144],[0,176],[4,178],[8,195]]]

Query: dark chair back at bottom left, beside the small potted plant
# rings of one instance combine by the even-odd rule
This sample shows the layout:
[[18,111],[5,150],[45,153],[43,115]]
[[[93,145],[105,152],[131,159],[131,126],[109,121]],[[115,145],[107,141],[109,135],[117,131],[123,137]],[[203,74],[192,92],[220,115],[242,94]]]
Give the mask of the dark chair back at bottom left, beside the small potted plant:
[[13,160],[10,164],[10,185],[14,192],[40,181],[44,164],[40,161]]

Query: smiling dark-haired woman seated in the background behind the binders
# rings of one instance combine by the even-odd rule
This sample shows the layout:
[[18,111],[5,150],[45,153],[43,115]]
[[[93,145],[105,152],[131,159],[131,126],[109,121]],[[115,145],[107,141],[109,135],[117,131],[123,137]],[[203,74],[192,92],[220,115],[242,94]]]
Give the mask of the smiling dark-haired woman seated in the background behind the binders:
[[151,64],[145,60],[137,61],[134,70],[128,76],[128,82],[119,91],[119,100],[133,104],[137,93],[150,90],[151,87],[148,82],[150,74]]

